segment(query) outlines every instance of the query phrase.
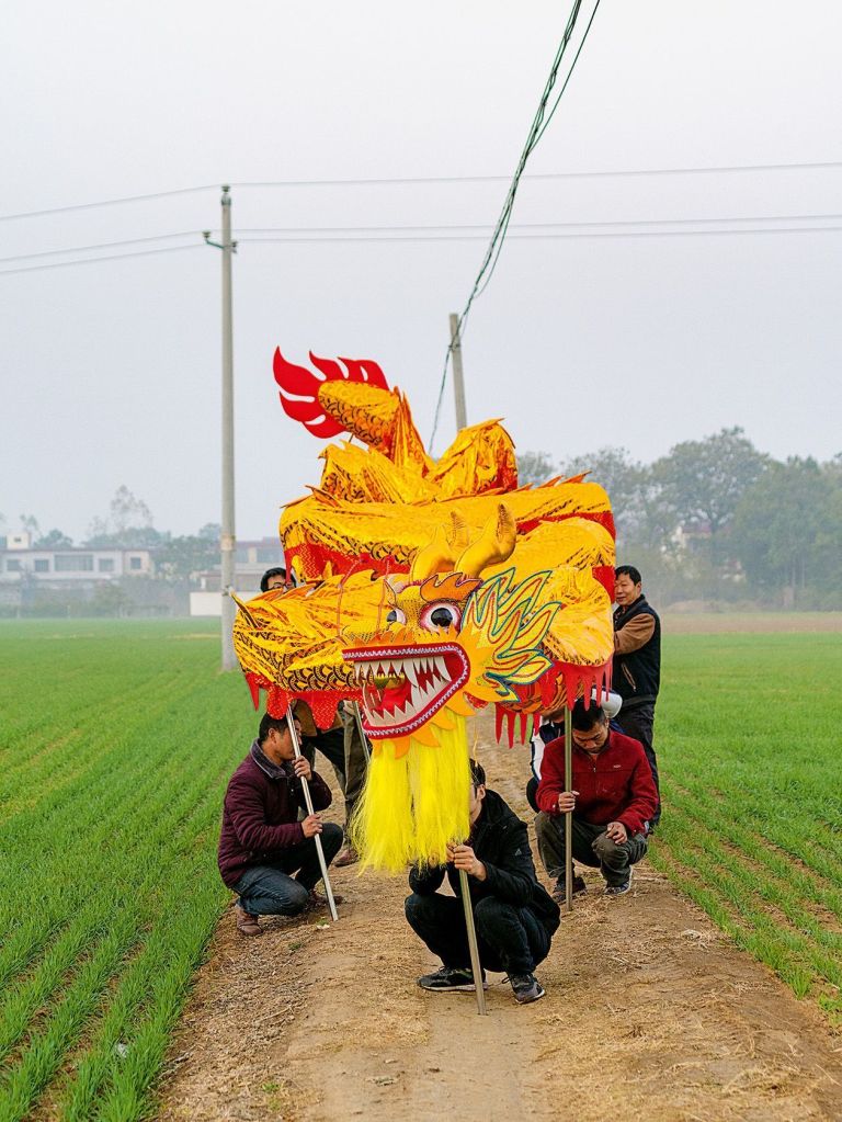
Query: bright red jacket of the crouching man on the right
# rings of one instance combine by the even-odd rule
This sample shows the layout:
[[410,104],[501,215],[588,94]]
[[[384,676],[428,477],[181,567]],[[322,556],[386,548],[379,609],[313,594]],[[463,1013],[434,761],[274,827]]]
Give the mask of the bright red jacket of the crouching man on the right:
[[[573,745],[573,787],[579,791],[575,813],[593,826],[622,822],[632,834],[645,834],[658,806],[658,792],[644,746],[622,733],[608,734],[602,752],[589,755]],[[547,815],[558,813],[564,785],[564,737],[546,746],[535,799]]]

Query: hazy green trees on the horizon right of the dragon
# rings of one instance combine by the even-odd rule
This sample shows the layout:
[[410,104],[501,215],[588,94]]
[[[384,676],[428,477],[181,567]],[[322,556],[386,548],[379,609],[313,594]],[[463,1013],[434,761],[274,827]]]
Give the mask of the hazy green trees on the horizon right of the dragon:
[[618,563],[661,604],[842,609],[842,453],[780,461],[742,429],[684,441],[653,463],[624,448],[518,457],[520,481],[589,472],[611,498]]

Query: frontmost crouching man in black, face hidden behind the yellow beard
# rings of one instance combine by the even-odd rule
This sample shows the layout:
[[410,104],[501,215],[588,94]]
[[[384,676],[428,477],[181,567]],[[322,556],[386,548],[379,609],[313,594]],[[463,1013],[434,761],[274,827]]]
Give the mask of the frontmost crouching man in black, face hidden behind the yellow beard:
[[[520,1004],[544,996],[533,974],[547,957],[558,928],[558,905],[535,876],[526,824],[496,791],[485,789],[485,773],[471,761],[471,834],[463,845],[448,848],[446,865],[409,873],[413,890],[406,900],[409,926],[444,963],[418,978],[434,993],[473,991],[460,870],[469,876],[480,962],[490,971],[506,971]],[[438,893],[445,873],[453,896]],[[482,985],[485,986],[483,968]]]

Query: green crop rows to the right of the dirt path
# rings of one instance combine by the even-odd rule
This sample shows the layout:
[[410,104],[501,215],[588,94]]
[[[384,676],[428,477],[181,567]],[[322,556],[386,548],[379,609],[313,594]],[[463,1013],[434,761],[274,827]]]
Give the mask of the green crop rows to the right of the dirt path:
[[734,941],[842,1024],[842,644],[673,635],[649,853]]

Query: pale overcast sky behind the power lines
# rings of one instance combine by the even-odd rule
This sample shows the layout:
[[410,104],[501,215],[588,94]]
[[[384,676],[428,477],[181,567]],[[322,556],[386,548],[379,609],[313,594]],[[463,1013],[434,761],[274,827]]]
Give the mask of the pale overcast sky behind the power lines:
[[[568,10],[7,6],[0,214],[225,182],[508,176]],[[804,0],[795,16],[768,0],[603,0],[528,172],[842,160],[841,40],[831,0]],[[506,190],[242,186],[234,231],[491,226]],[[0,256],[218,231],[219,195],[3,221]],[[823,215],[813,224],[840,228],[841,200],[842,167],[525,180],[513,224],[557,233],[528,223]],[[323,447],[280,410],[275,347],[295,362],[309,349],[376,359],[427,440],[447,315],[464,305],[485,242],[240,237],[237,528],[274,536],[280,504],[317,482]],[[220,521],[220,255],[200,243],[195,233],[159,243],[196,246],[185,251],[0,277],[9,528],[26,513],[78,540],[123,484],[159,530]],[[469,421],[503,417],[519,450],[556,458],[613,444],[649,461],[742,425],[776,457],[827,459],[842,450],[841,251],[839,229],[512,237],[464,341]],[[453,434],[448,383],[436,453]]]

